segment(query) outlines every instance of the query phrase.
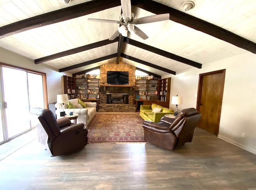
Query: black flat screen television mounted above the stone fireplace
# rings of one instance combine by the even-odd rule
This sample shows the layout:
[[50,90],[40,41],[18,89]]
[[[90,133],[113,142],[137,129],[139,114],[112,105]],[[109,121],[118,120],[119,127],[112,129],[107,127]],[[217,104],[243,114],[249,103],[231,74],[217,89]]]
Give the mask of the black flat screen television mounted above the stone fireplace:
[[129,84],[128,71],[107,71],[108,84]]

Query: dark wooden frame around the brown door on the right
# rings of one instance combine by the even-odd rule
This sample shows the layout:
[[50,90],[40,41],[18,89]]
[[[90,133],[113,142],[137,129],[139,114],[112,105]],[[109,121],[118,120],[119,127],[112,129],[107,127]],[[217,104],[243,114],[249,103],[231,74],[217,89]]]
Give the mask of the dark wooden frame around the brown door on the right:
[[[199,80],[198,80],[198,91],[197,91],[197,102],[196,102],[196,109],[199,110],[200,107],[200,102],[201,102],[201,96],[202,96],[202,86],[203,86],[203,78],[206,75],[211,75],[211,74],[217,74],[217,73],[223,73],[224,74],[224,79],[226,76],[226,69],[222,69],[222,70],[216,70],[216,71],[212,71],[212,72],[206,72],[206,73],[202,73],[199,74]],[[222,98],[221,98],[221,102],[220,102],[220,112],[218,113],[218,129],[216,131],[216,136],[218,136],[219,134],[219,128],[220,128],[220,116],[221,116],[221,110],[222,110],[222,100],[223,100],[223,92],[224,92],[224,82],[225,80],[223,80],[222,83]]]

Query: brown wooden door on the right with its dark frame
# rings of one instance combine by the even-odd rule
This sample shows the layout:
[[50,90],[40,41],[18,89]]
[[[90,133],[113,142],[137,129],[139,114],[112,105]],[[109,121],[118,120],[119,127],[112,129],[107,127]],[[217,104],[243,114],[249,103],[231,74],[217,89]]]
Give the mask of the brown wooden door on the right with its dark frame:
[[202,114],[198,127],[218,136],[226,70],[199,75],[197,110]]

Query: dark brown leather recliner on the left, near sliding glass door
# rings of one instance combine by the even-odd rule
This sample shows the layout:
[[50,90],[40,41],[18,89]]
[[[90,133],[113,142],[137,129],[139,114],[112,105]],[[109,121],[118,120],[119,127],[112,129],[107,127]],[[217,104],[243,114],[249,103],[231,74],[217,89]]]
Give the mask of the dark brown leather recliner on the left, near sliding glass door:
[[43,108],[33,108],[30,111],[32,119],[37,122],[38,141],[52,156],[82,149],[88,142],[88,130],[83,123],[73,124],[66,117],[56,120],[52,111]]

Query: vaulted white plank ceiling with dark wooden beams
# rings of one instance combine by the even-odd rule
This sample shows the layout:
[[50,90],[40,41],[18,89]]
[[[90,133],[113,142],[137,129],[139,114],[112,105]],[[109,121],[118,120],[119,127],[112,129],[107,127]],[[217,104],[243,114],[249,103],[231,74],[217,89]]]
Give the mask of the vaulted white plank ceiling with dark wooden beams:
[[[0,47],[70,72],[82,74],[118,61],[161,78],[244,52],[256,53],[255,0],[131,0],[135,18],[169,13],[170,19],[108,40],[119,24],[120,0],[0,0]],[[242,63],[241,63],[242,64]]]

